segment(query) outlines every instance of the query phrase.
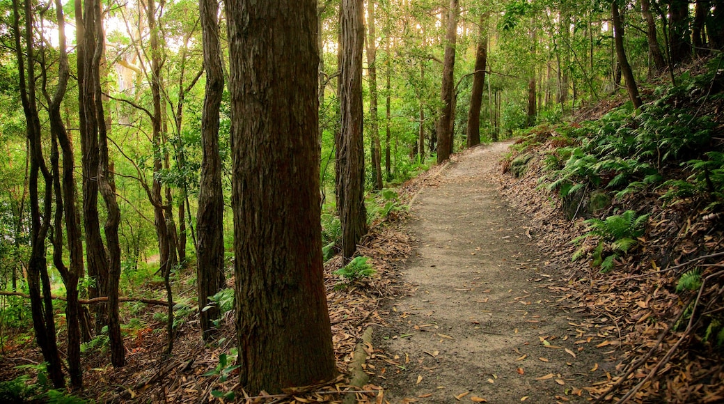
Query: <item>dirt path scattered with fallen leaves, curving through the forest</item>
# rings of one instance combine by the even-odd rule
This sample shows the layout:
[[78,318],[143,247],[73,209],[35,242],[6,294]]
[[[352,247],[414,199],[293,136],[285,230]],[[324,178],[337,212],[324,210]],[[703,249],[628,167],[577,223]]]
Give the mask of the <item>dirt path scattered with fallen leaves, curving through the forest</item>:
[[559,307],[560,275],[486,180],[508,146],[463,153],[413,202],[412,292],[389,307],[369,362],[389,403],[583,402],[604,376],[581,343],[595,332]]

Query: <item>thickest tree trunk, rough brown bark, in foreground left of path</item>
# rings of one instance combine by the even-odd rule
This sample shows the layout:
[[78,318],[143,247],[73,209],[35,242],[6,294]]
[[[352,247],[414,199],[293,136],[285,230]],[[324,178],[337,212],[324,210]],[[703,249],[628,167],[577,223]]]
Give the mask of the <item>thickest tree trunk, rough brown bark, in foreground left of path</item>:
[[315,4],[227,0],[225,7],[235,61],[229,85],[237,363],[241,384],[255,393],[335,373],[319,223]]

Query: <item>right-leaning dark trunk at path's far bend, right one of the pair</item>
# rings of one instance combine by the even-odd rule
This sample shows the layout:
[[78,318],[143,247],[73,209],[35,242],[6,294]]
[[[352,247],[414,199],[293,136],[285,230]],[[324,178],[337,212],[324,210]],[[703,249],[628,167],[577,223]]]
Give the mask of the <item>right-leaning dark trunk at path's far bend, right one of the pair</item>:
[[480,144],[480,108],[483,105],[485,68],[488,60],[488,15],[487,12],[484,12],[480,16],[480,37],[475,55],[473,89],[470,93],[470,109],[468,110],[468,147]]

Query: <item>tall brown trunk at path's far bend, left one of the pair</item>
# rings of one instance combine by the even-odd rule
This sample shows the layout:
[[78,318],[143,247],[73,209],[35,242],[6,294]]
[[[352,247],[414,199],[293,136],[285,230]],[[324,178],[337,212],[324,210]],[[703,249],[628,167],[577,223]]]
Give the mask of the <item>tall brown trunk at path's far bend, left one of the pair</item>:
[[447,9],[447,34],[445,35],[445,59],[442,64],[440,99],[442,113],[437,121],[437,163],[450,159],[452,153],[452,98],[455,91],[455,43],[458,40],[459,0],[450,0]]

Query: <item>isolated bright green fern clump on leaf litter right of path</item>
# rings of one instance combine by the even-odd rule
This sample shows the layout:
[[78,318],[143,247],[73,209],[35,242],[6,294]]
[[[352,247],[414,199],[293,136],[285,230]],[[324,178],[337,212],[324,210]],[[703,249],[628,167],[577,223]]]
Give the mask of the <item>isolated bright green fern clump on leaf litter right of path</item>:
[[[615,259],[636,248],[638,237],[644,235],[649,214],[637,216],[636,211],[625,211],[620,215],[608,216],[606,219],[588,219],[584,222],[588,232],[573,239],[571,243],[581,240],[595,239],[597,245],[592,251],[592,265],[599,266],[602,273],[614,269]],[[573,253],[573,261],[586,253],[585,245]]]

